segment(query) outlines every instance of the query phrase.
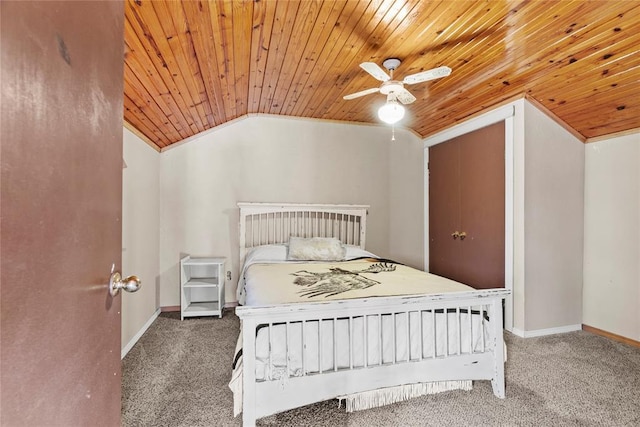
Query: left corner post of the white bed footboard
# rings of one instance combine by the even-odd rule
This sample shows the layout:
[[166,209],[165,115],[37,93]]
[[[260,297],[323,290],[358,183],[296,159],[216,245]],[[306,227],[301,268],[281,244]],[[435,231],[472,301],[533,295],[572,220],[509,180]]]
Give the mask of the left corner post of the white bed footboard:
[[242,327],[242,425],[256,425],[256,322],[251,318],[241,320]]

